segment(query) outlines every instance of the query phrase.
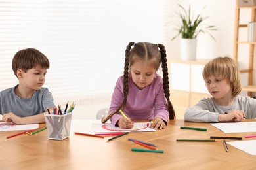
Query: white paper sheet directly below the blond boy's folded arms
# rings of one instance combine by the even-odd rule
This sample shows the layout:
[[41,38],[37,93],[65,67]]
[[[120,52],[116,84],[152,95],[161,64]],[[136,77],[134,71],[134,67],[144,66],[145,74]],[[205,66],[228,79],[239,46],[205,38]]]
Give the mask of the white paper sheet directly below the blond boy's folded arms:
[[242,133],[256,131],[256,122],[213,123],[211,125],[217,127],[224,133]]

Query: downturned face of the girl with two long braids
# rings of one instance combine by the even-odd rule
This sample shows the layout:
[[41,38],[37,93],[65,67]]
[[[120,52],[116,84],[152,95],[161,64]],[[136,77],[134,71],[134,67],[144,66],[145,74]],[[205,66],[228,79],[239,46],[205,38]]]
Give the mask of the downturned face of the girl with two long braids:
[[136,61],[131,65],[130,69],[131,78],[140,90],[151,84],[156,75],[156,68],[152,61]]

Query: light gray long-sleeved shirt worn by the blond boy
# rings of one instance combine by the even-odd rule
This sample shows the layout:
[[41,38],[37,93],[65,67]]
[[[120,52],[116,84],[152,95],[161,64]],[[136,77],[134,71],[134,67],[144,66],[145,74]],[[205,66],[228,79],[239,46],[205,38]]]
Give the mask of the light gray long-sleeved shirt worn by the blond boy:
[[232,110],[244,111],[245,118],[256,118],[256,99],[238,95],[232,105],[221,106],[215,103],[213,97],[205,98],[186,109],[184,120],[190,122],[218,122],[219,114],[225,114],[225,112]]

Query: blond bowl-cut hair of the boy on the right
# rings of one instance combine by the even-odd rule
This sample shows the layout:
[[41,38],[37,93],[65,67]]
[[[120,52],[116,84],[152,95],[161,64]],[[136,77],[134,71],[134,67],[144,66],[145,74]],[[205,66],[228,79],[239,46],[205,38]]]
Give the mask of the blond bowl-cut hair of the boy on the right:
[[211,59],[203,68],[203,79],[209,76],[220,76],[226,78],[232,88],[232,95],[238,95],[242,90],[240,72],[234,60],[228,56]]

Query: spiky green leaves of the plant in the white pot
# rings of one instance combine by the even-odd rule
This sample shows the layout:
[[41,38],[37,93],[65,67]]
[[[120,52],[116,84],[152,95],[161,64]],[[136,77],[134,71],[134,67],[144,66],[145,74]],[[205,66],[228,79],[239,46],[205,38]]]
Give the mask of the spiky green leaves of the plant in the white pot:
[[178,6],[182,9],[182,12],[177,14],[181,19],[181,24],[178,25],[178,33],[175,35],[175,37],[173,37],[173,39],[179,37],[179,35],[181,35],[182,39],[196,39],[199,33],[208,33],[215,40],[209,31],[217,30],[216,27],[213,25],[203,25],[203,21],[209,17],[203,18],[200,16],[200,14],[198,14],[194,19],[194,16],[191,15],[190,6],[188,7],[188,11],[181,5]]

